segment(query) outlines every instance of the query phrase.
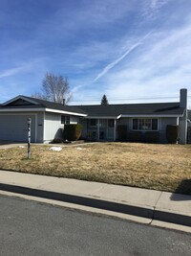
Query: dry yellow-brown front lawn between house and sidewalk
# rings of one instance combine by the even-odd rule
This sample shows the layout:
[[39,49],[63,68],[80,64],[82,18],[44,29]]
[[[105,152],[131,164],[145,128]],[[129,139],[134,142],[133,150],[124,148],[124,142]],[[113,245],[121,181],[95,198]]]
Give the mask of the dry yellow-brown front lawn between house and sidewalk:
[[0,169],[191,195],[191,145],[95,143],[0,149]]

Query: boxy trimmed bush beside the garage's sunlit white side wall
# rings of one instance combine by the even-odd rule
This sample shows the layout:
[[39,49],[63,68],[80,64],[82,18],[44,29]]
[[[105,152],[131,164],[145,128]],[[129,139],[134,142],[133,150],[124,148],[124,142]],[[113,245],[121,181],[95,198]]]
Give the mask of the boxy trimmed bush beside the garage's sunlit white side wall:
[[80,138],[82,133],[82,125],[65,125],[63,131],[63,139],[68,141],[76,141]]

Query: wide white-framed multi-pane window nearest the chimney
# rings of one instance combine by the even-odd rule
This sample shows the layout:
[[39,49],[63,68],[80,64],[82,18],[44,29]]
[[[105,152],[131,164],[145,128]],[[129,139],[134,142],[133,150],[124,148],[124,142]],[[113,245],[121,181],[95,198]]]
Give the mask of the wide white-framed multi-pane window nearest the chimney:
[[133,129],[158,130],[158,119],[135,118],[133,119]]

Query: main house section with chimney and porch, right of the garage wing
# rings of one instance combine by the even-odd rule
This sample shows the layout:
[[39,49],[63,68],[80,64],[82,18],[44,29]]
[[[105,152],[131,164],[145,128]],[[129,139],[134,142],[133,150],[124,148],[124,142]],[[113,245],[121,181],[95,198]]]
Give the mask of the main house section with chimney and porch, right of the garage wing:
[[[144,141],[158,134],[159,143],[167,143],[167,125],[179,126],[180,143],[187,140],[187,90],[180,90],[180,102],[131,105],[81,105],[87,116],[81,120],[83,137],[95,140],[114,140],[119,127],[125,128],[125,139]],[[142,138],[141,138],[142,137]]]

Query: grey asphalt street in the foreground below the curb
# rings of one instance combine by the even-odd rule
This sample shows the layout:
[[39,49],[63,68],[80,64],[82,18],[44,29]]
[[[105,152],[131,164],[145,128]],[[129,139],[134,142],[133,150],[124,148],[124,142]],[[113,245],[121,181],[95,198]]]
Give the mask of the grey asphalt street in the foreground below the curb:
[[191,235],[0,196],[0,255],[191,255]]

